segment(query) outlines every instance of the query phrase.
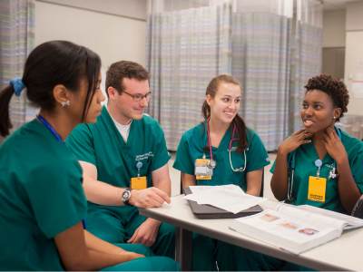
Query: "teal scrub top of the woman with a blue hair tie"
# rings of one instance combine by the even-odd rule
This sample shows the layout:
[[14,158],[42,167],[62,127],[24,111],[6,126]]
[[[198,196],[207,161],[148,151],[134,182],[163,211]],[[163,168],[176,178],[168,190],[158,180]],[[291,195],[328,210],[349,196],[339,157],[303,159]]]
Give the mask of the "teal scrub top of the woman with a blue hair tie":
[[30,121],[0,146],[0,270],[63,270],[54,237],[85,218],[82,169]]

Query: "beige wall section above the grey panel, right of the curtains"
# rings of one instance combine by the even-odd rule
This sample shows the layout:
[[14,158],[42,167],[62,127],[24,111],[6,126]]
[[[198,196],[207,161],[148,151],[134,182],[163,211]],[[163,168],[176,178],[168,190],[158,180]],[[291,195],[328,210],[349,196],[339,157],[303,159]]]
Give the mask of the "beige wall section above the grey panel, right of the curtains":
[[346,46],[346,10],[324,12],[323,47],[344,46]]

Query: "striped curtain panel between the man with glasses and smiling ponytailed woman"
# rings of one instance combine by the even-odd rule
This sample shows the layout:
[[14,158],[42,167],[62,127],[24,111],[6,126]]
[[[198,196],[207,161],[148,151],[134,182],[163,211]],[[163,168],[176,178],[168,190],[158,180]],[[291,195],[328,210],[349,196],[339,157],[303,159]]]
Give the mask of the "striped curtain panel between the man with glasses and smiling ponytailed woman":
[[231,73],[231,5],[192,8],[149,17],[152,102],[168,149],[202,121],[201,104],[211,78]]

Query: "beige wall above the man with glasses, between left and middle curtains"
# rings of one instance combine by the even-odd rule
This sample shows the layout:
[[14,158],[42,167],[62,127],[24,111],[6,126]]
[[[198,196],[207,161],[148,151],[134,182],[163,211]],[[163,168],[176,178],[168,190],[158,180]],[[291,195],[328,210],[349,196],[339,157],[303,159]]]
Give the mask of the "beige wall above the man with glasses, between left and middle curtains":
[[[53,2],[64,5],[35,1],[35,45],[54,39],[83,44],[100,54],[103,68],[118,60],[145,64],[146,21],[141,19],[146,15],[144,0]],[[97,3],[101,2],[107,4],[101,12],[92,11],[97,10]],[[125,15],[127,10],[129,15]]]

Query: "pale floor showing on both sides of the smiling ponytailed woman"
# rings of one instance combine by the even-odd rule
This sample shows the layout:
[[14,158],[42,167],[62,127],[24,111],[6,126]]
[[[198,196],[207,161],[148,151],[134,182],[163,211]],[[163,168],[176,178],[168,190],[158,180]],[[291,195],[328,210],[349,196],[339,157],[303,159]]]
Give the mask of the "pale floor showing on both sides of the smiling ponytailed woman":
[[[263,186],[263,195],[265,198],[268,199],[275,199],[271,189],[270,189],[270,180],[272,177],[272,174],[270,173],[270,168],[272,166],[273,161],[276,159],[276,154],[275,153],[270,153],[269,154],[270,157],[270,165],[265,167],[264,171],[264,186]],[[177,196],[180,194],[180,188],[181,188],[181,172],[179,170],[175,170],[172,168],[172,164],[174,163],[175,160],[175,153],[172,153],[172,159],[169,160],[169,171],[170,171],[170,176],[172,179],[172,196]]]

